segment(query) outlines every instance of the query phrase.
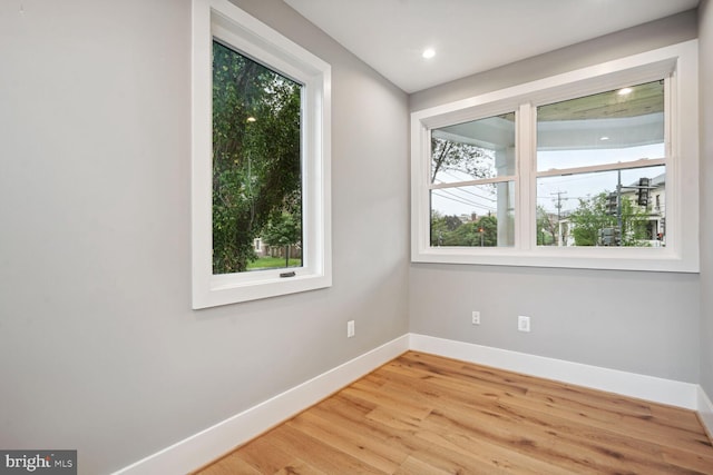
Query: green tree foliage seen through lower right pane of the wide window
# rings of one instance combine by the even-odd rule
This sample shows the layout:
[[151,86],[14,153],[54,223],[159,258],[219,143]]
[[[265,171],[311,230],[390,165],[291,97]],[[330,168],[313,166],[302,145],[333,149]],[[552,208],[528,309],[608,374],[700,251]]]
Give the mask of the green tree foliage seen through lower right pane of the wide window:
[[[628,196],[622,196],[622,236],[618,236],[618,217],[607,214],[608,192],[594,198],[579,199],[579,206],[569,215],[575,246],[600,246],[603,235],[616,236],[621,246],[646,246],[647,215]],[[616,244],[616,243],[613,243]]]

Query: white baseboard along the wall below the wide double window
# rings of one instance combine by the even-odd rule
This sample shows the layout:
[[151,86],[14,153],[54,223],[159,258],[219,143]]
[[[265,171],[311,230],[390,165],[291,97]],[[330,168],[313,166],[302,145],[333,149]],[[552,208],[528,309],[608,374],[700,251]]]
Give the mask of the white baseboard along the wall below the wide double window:
[[411,334],[410,348],[695,410],[699,385]]

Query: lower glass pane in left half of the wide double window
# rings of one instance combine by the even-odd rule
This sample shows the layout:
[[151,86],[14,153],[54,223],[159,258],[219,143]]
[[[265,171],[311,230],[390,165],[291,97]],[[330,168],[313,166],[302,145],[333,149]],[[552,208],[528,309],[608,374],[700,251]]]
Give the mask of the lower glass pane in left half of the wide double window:
[[514,245],[514,181],[431,190],[431,246]]

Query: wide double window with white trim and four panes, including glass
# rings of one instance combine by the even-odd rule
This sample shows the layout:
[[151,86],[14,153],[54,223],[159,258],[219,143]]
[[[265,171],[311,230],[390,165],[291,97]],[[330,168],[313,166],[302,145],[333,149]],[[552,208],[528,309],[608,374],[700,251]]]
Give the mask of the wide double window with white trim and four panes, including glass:
[[696,51],[413,112],[412,260],[697,271]]

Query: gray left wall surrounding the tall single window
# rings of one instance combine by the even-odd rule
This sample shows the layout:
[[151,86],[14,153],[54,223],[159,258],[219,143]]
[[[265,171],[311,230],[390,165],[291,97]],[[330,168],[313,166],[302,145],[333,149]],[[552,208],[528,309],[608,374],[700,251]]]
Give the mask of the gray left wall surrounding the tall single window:
[[237,3],[332,63],[333,287],[191,310],[189,0],[0,2],[0,447],[118,469],[408,330],[406,93]]

